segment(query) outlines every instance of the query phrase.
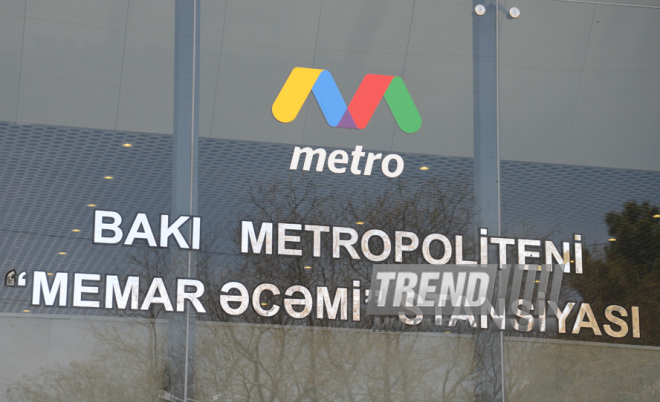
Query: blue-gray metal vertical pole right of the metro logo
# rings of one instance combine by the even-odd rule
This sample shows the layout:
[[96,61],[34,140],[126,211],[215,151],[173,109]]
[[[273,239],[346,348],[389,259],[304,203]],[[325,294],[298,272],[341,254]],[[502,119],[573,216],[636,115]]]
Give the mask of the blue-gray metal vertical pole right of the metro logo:
[[[478,4],[473,0],[473,9]],[[489,236],[500,235],[497,25],[497,3],[486,5],[483,15],[473,13],[475,215],[477,228],[486,228]],[[475,345],[476,400],[504,401],[503,334],[477,333]]]

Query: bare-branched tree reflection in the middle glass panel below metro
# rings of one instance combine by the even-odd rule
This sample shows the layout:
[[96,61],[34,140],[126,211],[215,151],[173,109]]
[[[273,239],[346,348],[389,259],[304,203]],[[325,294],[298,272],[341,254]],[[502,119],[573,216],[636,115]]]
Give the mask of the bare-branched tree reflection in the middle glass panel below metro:
[[[325,189],[319,182],[302,177],[253,187],[250,205],[240,218],[348,227],[361,221],[365,224],[359,232],[381,229],[392,240],[396,230],[420,237],[434,232],[451,236],[467,232],[471,222],[467,185],[462,179],[431,179],[408,186],[395,182],[378,194],[337,197],[322,194]],[[208,254],[200,258],[198,274],[214,287],[208,294],[217,295],[223,283],[237,278],[248,288],[273,283],[283,291],[299,284],[315,293],[316,286],[327,286],[333,295],[337,287],[350,288],[353,280],[359,280],[363,290],[368,288],[373,262],[348,255],[333,259],[329,234],[322,237],[321,257],[311,258],[311,234],[300,235],[302,242],[296,248],[305,250],[302,257]],[[231,240],[238,249],[238,229]],[[474,247],[471,238],[466,243],[468,250]],[[373,241],[371,250],[379,254],[383,244]],[[386,262],[393,259],[392,253]],[[421,251],[404,254],[404,262],[424,262]],[[282,304],[281,297],[275,297],[267,301],[268,307],[273,301]],[[303,320],[293,320],[284,312],[271,318],[253,312],[231,317],[218,304],[217,299],[205,300],[214,321],[262,325],[198,325],[198,395],[224,390],[223,398],[233,395],[238,400],[472,398],[475,375],[469,337],[371,332],[372,319],[363,316],[360,322],[351,322],[350,307],[349,321],[333,321],[318,320],[314,313]]]

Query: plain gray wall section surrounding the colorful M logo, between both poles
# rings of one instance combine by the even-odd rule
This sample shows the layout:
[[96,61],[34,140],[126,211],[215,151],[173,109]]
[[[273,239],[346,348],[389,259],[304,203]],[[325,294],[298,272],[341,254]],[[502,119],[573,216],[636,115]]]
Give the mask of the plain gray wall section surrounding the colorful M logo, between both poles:
[[[222,23],[222,6],[213,7]],[[214,27],[202,38],[222,44],[212,137],[472,155],[472,14],[466,4],[229,2],[223,20],[224,33]],[[203,65],[215,63],[205,57]],[[279,123],[270,108],[297,66],[329,70],[347,102],[366,74],[402,76],[422,128],[401,132],[384,101],[366,129],[332,128],[313,96],[293,122]],[[202,136],[208,119],[202,116]]]

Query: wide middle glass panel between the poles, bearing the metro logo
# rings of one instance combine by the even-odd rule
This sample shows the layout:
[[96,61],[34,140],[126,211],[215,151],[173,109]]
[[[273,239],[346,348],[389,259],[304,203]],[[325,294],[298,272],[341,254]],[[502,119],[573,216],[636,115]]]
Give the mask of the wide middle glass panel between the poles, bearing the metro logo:
[[[368,0],[201,7],[204,236],[197,273],[208,287],[208,312],[197,316],[195,397],[474,399],[488,373],[478,369],[482,359],[470,331],[449,326],[448,317],[443,325],[434,325],[433,317],[405,325],[398,317],[365,314],[372,266],[395,263],[395,232],[419,236],[417,249],[402,253],[403,262],[426,264],[421,242],[436,232],[452,242],[463,235],[466,258],[473,257],[471,7]],[[296,67],[325,71],[299,70],[296,77]],[[299,113],[283,122],[278,94],[304,73],[326,81],[308,82]],[[341,128],[346,104],[350,110],[367,74],[402,78],[421,115],[419,130],[400,128],[396,106],[387,94],[382,99],[386,88],[374,95],[366,127]],[[333,83],[343,100],[323,103]],[[305,101],[312,85],[319,87]],[[336,106],[342,102],[343,109]],[[334,123],[328,117],[333,107],[341,109]],[[318,157],[309,156],[307,165],[308,156],[294,156],[304,147],[325,160],[317,164]],[[352,158],[361,150],[356,164],[329,165],[333,152]],[[370,153],[378,158],[368,162]],[[387,155],[401,158],[401,172],[394,156],[383,170]],[[352,255],[333,247],[332,231],[342,228],[342,239],[351,231],[364,238],[380,230],[392,245],[373,238],[367,242],[371,258],[361,242]],[[284,230],[289,239],[281,237]],[[441,251],[432,249],[433,255]],[[223,306],[221,298],[240,297],[242,286],[246,297]],[[308,309],[287,307],[286,299],[307,291]],[[337,303],[331,318],[326,291],[328,302]]]

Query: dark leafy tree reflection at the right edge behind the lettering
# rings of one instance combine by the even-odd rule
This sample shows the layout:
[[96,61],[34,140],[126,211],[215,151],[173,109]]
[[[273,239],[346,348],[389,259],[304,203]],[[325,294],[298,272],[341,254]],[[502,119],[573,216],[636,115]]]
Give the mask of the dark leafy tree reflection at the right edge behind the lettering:
[[[605,317],[605,308],[619,305],[631,314],[638,306],[642,336],[632,338],[632,329],[621,339],[592,337],[589,340],[660,345],[660,208],[635,201],[621,212],[605,217],[611,241],[601,255],[587,255],[585,274],[571,275],[570,284],[580,292],[596,317]],[[630,321],[628,321],[630,322]]]

